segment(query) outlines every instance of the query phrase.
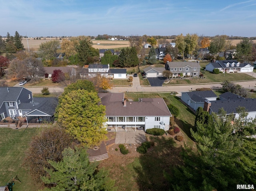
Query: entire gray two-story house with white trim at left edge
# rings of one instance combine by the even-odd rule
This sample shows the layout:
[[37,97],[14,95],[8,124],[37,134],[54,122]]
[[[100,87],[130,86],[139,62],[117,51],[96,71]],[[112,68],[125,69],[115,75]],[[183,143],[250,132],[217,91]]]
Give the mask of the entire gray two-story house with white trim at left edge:
[[57,104],[58,98],[33,98],[24,87],[0,87],[0,120],[26,116],[28,122],[35,118],[52,122]]

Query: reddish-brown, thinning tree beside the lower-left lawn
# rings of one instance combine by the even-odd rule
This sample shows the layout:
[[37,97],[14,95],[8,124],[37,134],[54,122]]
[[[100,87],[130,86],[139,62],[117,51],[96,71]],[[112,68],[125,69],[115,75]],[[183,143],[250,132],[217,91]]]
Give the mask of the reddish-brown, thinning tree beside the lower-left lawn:
[[70,136],[64,128],[57,125],[41,128],[39,134],[32,138],[24,160],[31,177],[41,182],[40,177],[47,175],[46,169],[51,168],[48,160],[60,161],[62,151],[71,146],[71,143]]

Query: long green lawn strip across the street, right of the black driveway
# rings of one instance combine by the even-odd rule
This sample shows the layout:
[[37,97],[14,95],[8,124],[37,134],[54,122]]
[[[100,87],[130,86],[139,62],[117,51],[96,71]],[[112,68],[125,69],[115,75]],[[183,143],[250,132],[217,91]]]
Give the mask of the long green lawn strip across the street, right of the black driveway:
[[177,79],[172,78],[168,84],[164,85],[178,85],[178,84],[199,84],[199,83],[218,83],[225,80],[228,81],[243,81],[243,80],[254,80],[254,77],[247,75],[246,73],[220,73],[213,74],[208,71],[201,70],[201,73],[205,78],[194,77],[194,78],[183,78]]

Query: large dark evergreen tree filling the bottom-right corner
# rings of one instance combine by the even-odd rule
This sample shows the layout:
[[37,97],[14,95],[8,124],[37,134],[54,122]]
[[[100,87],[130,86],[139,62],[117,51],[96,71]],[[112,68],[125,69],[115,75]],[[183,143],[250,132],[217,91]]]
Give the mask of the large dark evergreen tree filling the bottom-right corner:
[[[165,174],[174,191],[233,191],[237,184],[255,184],[255,162],[250,163],[255,158],[256,152],[252,151],[255,146],[250,146],[249,139],[234,133],[232,115],[226,115],[223,109],[210,117],[214,122],[198,122],[196,132],[191,130],[197,150],[185,148],[182,152],[184,165],[174,167],[172,175]],[[243,149],[243,146],[248,148]]]

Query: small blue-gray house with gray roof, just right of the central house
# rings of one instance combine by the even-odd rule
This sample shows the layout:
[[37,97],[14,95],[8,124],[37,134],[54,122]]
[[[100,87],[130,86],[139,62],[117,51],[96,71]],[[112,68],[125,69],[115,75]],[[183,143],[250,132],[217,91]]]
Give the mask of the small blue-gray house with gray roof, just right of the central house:
[[198,107],[204,108],[205,100],[214,101],[218,96],[213,91],[190,91],[182,92],[181,100],[190,106],[193,110],[197,110]]

